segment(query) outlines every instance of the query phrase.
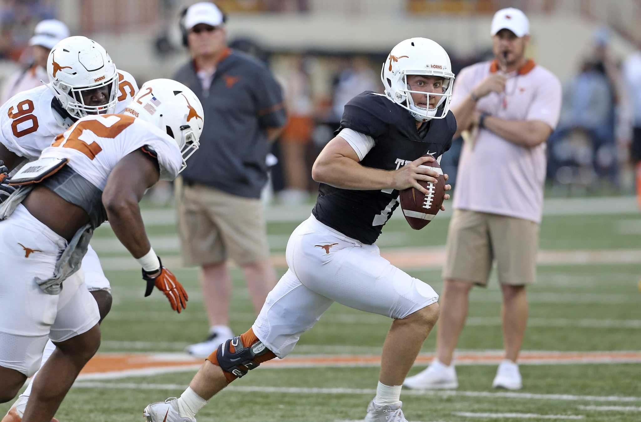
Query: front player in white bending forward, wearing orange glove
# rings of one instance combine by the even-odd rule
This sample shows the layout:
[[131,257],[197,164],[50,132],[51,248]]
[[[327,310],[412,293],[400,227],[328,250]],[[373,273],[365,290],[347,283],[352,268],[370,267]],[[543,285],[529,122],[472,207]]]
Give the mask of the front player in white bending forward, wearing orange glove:
[[[142,86],[123,114],[89,115],[12,176],[19,185],[0,206],[0,402],[38,368],[22,419],[49,422],[100,344],[99,312],[80,262],[93,230],[110,221],[147,282],[186,307],[187,292],[162,266],[138,201],[158,180],[174,180],[199,146],[203,107],[173,80]],[[78,271],[79,270],[79,271]]]

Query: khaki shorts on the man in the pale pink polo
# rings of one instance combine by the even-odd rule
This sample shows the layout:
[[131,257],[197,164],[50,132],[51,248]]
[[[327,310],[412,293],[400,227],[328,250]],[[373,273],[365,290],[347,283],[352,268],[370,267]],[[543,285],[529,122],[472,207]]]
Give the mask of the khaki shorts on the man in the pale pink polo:
[[445,247],[445,280],[487,285],[496,259],[499,283],[535,282],[539,224],[470,210],[454,210]]

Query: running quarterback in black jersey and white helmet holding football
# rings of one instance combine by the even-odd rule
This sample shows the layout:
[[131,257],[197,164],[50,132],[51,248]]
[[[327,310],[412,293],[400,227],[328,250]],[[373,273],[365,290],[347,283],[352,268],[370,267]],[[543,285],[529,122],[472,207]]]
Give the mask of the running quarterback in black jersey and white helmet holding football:
[[185,418],[261,362],[287,356],[336,301],[392,318],[364,420],[406,422],[401,385],[437,322],[438,294],[381,257],[374,242],[399,190],[427,193],[419,180],[437,183],[438,174],[422,164],[447,151],[456,131],[449,112],[454,74],[441,46],[410,38],[392,49],[381,80],[385,94],[363,92],[345,105],[335,138],[314,163],[320,191],[313,214],[290,236],[289,269],[253,326],[213,351],[178,400],[149,405],[147,421],[195,421]]

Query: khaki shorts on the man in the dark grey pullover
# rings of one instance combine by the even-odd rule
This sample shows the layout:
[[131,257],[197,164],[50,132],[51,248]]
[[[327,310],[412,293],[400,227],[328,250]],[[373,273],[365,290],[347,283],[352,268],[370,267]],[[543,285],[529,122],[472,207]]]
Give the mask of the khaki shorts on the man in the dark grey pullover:
[[176,202],[185,266],[217,264],[228,258],[244,265],[269,258],[260,199],[204,185],[187,186],[179,178]]

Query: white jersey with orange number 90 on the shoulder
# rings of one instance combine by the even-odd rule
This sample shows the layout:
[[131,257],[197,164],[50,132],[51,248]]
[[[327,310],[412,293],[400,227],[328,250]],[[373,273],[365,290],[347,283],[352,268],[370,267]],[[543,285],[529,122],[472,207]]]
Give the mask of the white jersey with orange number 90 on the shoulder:
[[[129,72],[118,71],[119,97],[115,113],[122,113],[138,92],[136,80]],[[54,96],[45,85],[11,97],[0,108],[0,142],[16,155],[33,161],[43,149],[51,146],[58,134],[73,123],[51,107]]]

